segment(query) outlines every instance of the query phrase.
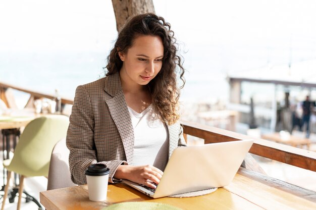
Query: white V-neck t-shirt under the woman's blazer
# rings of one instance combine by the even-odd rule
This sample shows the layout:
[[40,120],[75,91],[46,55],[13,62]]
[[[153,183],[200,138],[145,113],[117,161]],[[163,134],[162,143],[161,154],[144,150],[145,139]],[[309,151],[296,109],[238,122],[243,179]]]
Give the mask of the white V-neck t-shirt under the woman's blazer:
[[133,165],[153,165],[162,171],[168,161],[169,138],[165,123],[152,105],[142,113],[128,107],[134,128]]

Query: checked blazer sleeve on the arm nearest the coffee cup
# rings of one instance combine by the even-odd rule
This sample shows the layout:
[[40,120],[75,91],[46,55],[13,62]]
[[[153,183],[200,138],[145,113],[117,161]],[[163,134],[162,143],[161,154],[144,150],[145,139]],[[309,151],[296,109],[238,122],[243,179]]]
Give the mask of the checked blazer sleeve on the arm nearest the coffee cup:
[[[85,170],[96,163],[107,165],[110,169],[109,182],[120,180],[113,178],[117,168],[126,161],[97,162],[94,144],[94,116],[91,98],[84,86],[76,89],[70,124],[67,131],[66,144],[70,151],[69,168],[71,180],[78,185],[86,184]],[[106,149],[106,148],[104,148]]]

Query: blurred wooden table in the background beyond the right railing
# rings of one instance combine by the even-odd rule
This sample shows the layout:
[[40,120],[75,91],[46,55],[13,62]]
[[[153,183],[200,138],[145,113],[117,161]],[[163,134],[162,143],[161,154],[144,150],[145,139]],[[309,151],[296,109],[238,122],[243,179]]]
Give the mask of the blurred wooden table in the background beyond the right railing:
[[302,148],[303,145],[306,145],[307,149],[309,149],[309,145],[311,143],[310,139],[308,138],[302,138],[293,135],[290,135],[288,138],[282,138],[279,132],[264,134],[261,136],[261,138],[275,141],[277,143],[289,144],[291,146],[300,148]]

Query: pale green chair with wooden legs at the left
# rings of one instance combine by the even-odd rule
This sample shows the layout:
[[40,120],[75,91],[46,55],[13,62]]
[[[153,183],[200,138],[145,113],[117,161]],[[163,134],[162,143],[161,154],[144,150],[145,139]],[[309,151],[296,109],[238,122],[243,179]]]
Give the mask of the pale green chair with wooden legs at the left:
[[20,174],[18,210],[21,207],[24,178],[48,176],[51,151],[59,140],[66,137],[68,125],[69,119],[66,116],[47,115],[36,118],[25,127],[13,158],[3,163],[8,170],[8,178],[2,210],[5,208],[12,172]]

